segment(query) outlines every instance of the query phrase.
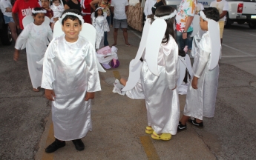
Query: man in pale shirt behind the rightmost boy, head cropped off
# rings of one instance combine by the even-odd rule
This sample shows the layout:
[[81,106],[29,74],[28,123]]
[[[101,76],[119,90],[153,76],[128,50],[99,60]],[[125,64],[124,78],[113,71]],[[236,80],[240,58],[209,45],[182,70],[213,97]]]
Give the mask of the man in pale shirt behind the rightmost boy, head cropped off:
[[220,41],[221,41],[221,44],[222,44],[224,24],[225,24],[225,19],[226,19],[226,13],[229,10],[229,4],[226,0],[215,0],[215,1],[211,1],[210,7],[217,8],[217,10],[219,10],[219,13],[220,13],[220,20],[219,20]]

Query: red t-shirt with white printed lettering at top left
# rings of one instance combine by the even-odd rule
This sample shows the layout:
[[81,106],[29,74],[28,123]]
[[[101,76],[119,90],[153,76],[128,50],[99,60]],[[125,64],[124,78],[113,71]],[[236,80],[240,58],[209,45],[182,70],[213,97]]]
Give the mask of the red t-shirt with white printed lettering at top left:
[[39,3],[36,0],[17,0],[14,5],[12,12],[13,13],[18,13],[19,16],[19,27],[23,30],[23,24],[22,24],[22,19],[25,16],[30,16],[32,15],[32,9],[34,7],[41,7]]

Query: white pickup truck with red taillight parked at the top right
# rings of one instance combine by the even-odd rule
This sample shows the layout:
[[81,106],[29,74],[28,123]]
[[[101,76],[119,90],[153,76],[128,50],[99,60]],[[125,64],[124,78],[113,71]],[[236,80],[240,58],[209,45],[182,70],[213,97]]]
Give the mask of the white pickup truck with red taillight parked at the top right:
[[[167,5],[178,8],[181,0],[165,0]],[[198,0],[203,7],[210,7],[213,0]],[[229,3],[229,11],[226,14],[225,27],[231,24],[248,23],[250,28],[256,28],[256,0],[226,0]]]

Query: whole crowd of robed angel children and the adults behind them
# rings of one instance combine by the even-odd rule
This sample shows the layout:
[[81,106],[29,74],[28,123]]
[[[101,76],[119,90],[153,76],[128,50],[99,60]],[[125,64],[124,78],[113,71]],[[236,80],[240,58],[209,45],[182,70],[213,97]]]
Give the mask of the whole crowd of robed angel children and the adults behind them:
[[[117,44],[119,28],[122,28],[126,46],[131,46],[127,32],[128,0],[17,0],[13,6],[8,0],[1,0],[0,4],[16,41],[13,59],[17,61],[19,50],[26,48],[33,91],[45,88],[45,97],[53,101],[56,140],[45,152],[52,153],[71,140],[76,150],[84,150],[81,139],[92,129],[91,99],[101,90],[96,50],[108,46],[111,13],[114,14],[112,46]],[[182,0],[180,8],[175,10],[166,6],[165,0],[145,1],[146,20],[137,56],[130,63],[131,74],[128,80],[116,79],[113,92],[126,94],[131,99],[145,99],[148,117],[145,133],[151,134],[152,139],[170,140],[177,131],[186,130],[187,121],[203,127],[203,117],[214,116],[219,76],[217,62],[228,7],[225,0],[215,0],[211,6],[203,9],[196,0]],[[200,24],[192,23],[196,14],[200,16]],[[22,19],[31,15],[33,23],[24,27]],[[44,23],[45,16],[50,24]],[[58,20],[62,26],[59,30],[65,35],[53,39],[52,29]],[[79,36],[85,22],[96,29],[95,46]],[[203,36],[198,36],[198,45],[192,47],[194,26],[200,26]],[[19,37],[16,28],[22,30]],[[220,39],[214,39],[216,33],[220,34]],[[211,43],[213,40],[216,42]],[[192,48],[196,50],[194,75],[186,72],[186,106],[180,119],[179,55],[186,48],[187,54]],[[43,58],[43,65],[38,64]]]

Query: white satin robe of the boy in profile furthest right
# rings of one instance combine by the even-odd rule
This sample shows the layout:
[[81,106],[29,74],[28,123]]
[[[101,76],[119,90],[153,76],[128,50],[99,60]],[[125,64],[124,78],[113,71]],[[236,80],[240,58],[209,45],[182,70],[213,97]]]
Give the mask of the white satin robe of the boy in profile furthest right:
[[[188,85],[184,115],[203,120],[205,117],[214,117],[219,65],[209,70],[211,56],[211,39],[209,32],[203,34],[198,45],[199,52],[194,57],[194,76],[198,77],[197,90]],[[192,80],[191,80],[192,81]]]

